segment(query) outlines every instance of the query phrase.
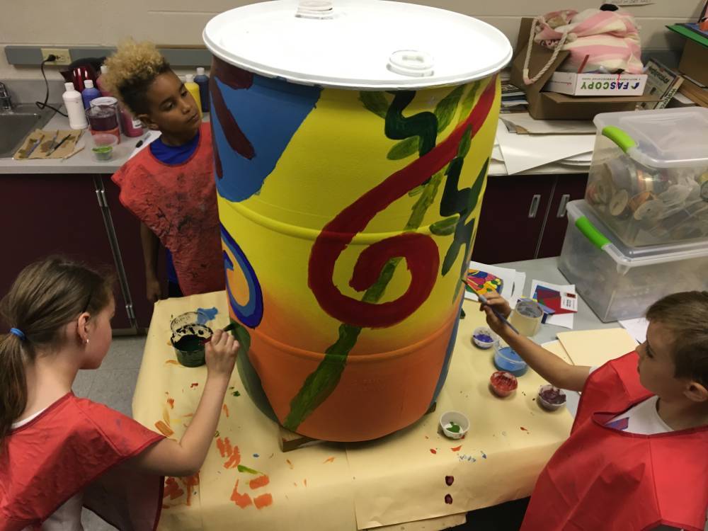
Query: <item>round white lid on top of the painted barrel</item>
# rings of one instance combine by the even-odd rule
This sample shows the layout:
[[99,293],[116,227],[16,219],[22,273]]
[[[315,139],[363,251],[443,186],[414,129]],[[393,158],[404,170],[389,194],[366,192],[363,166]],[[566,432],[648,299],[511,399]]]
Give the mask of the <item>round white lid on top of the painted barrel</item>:
[[498,72],[512,55],[492,25],[388,0],[259,2],[215,16],[202,38],[250,72],[346,89],[462,84]]

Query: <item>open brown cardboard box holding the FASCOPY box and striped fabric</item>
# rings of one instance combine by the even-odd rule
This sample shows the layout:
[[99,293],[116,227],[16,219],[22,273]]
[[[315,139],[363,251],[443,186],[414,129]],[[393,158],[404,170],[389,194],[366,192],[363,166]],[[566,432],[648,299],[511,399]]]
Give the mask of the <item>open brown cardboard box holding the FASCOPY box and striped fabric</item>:
[[[521,19],[518,44],[511,62],[511,82],[526,92],[529,114],[533,118],[537,120],[591,120],[598,113],[634,110],[639,101],[658,101],[656,96],[569,96],[556,92],[543,92],[543,86],[568,57],[569,52],[560,52],[549,69],[534,84],[524,84],[522,72],[532,21],[532,18]],[[552,50],[533,42],[529,63],[530,77],[539,72],[552,55]]]

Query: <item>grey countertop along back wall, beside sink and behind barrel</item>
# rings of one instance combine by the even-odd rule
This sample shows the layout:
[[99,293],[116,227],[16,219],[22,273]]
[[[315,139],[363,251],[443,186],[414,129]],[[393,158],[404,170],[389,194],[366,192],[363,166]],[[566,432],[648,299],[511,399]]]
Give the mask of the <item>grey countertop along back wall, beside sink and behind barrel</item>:
[[[209,120],[208,113],[205,113],[204,120]],[[69,118],[55,114],[45,125],[45,130],[69,129]],[[86,135],[81,142],[86,142]],[[115,173],[125,161],[130,158],[130,154],[135,149],[135,144],[142,137],[126,137],[121,135],[120,144],[115,148],[115,154],[110,161],[99,162],[93,159],[90,149],[84,148],[70,159],[47,159],[47,160],[24,160],[16,161],[12,158],[0,159],[0,174],[30,174],[30,173],[86,173],[91,175]],[[537,168],[517,173],[515,175],[547,175],[549,173],[586,173],[587,168],[578,166],[564,166],[562,164],[546,164]],[[507,176],[506,166],[503,162],[491,160],[489,165],[490,176]]]

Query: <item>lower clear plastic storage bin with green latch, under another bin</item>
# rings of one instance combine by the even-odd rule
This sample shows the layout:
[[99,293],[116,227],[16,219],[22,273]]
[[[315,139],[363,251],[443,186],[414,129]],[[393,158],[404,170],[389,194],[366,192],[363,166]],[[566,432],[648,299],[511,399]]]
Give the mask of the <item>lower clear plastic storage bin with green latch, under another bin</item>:
[[600,321],[632,319],[669,293],[708,289],[708,241],[629,247],[585,200],[571,201],[558,268]]

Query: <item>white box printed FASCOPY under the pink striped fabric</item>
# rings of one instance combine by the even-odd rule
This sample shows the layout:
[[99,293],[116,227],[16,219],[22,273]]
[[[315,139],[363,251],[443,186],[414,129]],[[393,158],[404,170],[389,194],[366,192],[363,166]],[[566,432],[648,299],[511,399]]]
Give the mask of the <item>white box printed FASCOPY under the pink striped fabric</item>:
[[544,91],[571,96],[641,96],[646,74],[576,74],[554,72]]

